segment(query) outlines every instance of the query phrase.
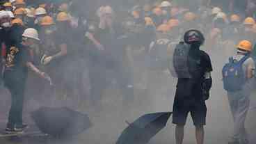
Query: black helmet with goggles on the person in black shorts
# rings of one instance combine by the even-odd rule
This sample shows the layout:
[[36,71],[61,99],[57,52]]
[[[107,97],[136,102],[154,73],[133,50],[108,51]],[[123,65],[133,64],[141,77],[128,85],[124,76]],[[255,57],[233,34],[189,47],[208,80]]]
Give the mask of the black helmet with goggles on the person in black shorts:
[[202,45],[205,42],[205,37],[202,33],[196,29],[186,31],[184,34],[184,42],[191,44],[192,42],[199,42]]

